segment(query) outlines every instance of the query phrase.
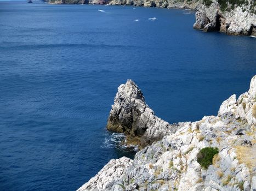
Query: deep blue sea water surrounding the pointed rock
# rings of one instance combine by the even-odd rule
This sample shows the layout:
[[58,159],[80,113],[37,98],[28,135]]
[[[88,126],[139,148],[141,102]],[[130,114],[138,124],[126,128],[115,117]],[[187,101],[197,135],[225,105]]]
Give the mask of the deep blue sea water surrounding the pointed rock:
[[133,158],[105,128],[127,79],[169,123],[217,115],[246,92],[256,39],[194,22],[191,10],[1,2],[0,190],[76,190]]

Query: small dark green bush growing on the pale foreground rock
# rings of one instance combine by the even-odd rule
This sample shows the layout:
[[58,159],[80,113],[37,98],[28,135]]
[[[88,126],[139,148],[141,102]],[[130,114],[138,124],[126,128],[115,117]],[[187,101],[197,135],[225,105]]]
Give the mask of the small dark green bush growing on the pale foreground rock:
[[213,157],[217,153],[219,153],[218,148],[202,148],[197,154],[197,162],[202,166],[202,168],[207,169],[209,165],[213,164]]

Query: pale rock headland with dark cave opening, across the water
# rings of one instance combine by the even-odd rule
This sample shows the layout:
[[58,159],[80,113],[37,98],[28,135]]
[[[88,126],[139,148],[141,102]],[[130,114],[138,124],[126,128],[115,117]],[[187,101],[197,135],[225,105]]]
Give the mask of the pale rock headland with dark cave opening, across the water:
[[228,1],[225,3],[219,4],[218,1],[213,1],[209,7],[203,4],[198,8],[194,28],[231,35],[256,35],[254,1],[245,0],[240,5],[229,4]]

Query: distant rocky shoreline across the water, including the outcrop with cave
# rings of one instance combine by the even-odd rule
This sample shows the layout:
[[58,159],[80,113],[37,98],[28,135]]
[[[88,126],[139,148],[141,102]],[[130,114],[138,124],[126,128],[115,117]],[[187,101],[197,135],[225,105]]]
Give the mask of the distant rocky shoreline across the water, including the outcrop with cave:
[[256,36],[254,0],[45,0],[49,4],[109,4],[141,7],[194,9],[195,29],[219,31],[229,35]]

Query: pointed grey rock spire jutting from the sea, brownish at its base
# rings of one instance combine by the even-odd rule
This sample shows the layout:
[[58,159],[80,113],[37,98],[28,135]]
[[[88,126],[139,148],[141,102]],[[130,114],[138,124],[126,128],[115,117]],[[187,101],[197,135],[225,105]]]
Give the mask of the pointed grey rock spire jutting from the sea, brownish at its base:
[[145,147],[174,133],[177,126],[155,116],[145,103],[143,93],[132,80],[118,87],[114,104],[107,121],[107,129],[124,133],[127,144]]

